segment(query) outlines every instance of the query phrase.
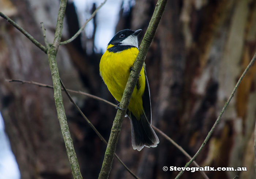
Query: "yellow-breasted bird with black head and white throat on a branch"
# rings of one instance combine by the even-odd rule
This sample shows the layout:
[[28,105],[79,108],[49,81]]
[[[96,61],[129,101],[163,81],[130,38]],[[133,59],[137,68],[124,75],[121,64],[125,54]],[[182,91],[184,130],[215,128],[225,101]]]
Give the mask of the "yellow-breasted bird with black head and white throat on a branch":
[[[138,36],[141,31],[142,29],[136,31],[124,29],[117,32],[109,41],[99,63],[100,76],[117,100],[117,108],[120,108],[119,102],[123,96],[129,73],[133,70],[133,63],[139,53]],[[151,127],[150,89],[145,63],[132,92],[127,116],[131,123],[133,149],[140,151],[144,146],[157,147],[159,139]]]

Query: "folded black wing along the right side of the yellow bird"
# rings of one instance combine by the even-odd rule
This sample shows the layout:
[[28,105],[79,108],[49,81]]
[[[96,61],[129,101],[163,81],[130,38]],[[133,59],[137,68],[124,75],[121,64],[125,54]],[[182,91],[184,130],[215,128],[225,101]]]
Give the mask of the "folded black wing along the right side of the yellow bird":
[[145,91],[142,95],[142,103],[143,103],[143,109],[147,116],[148,122],[151,124],[152,114],[151,114],[150,90],[149,90],[145,65],[144,65],[144,73],[145,73],[146,84],[145,84]]

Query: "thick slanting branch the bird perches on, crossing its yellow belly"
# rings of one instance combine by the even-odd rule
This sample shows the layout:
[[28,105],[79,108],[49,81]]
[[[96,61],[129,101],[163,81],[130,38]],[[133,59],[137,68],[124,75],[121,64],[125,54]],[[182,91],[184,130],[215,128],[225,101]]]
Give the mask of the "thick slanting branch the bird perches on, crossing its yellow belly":
[[138,56],[133,64],[134,71],[131,71],[129,79],[127,81],[123,97],[120,101],[120,107],[125,110],[118,109],[116,117],[113,122],[113,126],[111,129],[108,146],[105,151],[104,160],[102,163],[102,168],[99,173],[99,179],[107,179],[111,170],[114,152],[116,150],[118,138],[121,131],[121,126],[124,120],[124,116],[127,111],[127,107],[129,104],[129,100],[131,99],[133,89],[139,77],[139,72],[142,69],[143,63],[145,61],[147,51],[150,47],[150,44],[155,36],[155,32],[157,31],[157,27],[159,21],[162,17],[163,11],[165,9],[165,5],[167,0],[158,0],[155,6],[155,11],[148,25],[145,36],[140,45],[140,50]]

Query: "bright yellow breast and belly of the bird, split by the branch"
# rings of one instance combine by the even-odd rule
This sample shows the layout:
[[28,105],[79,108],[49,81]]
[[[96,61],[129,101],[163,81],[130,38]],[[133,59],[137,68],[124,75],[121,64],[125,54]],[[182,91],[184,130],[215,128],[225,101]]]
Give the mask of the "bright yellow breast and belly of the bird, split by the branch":
[[[101,77],[110,93],[118,102],[121,101],[129,77],[129,69],[132,67],[138,52],[136,47],[116,53],[107,50],[101,57],[99,63]],[[128,109],[139,120],[140,115],[143,114],[142,95],[145,90],[145,74],[143,67],[140,71],[138,84],[139,86],[137,87],[136,85],[132,92]]]

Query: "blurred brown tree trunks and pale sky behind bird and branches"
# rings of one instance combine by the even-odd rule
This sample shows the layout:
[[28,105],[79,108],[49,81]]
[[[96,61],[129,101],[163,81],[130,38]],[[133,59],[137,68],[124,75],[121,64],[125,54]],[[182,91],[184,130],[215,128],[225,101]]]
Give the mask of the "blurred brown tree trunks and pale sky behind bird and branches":
[[[102,1],[68,0],[62,41],[74,35]],[[143,36],[155,4],[156,0],[108,0],[78,38],[60,47],[57,63],[65,86],[116,103],[99,76],[101,55],[121,29],[143,29]],[[0,11],[42,44],[40,22],[52,42],[58,8],[59,0],[0,0]],[[153,124],[193,156],[255,52],[256,0],[169,0],[146,58]],[[255,73],[256,64],[196,158],[202,167],[247,167],[247,171],[206,171],[211,179],[255,178]],[[6,79],[52,84],[45,53],[0,18],[0,178],[72,178],[53,90]],[[108,139],[116,109],[71,95]],[[97,178],[106,146],[65,93],[63,98],[83,178]],[[133,150],[127,118],[116,153],[142,179],[174,178],[178,172],[164,172],[163,166],[183,167],[188,159],[158,137],[157,148]],[[132,176],[114,159],[109,178]],[[202,175],[186,171],[181,178]]]

